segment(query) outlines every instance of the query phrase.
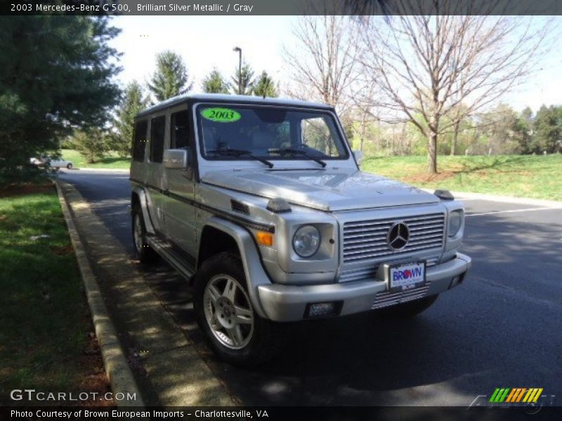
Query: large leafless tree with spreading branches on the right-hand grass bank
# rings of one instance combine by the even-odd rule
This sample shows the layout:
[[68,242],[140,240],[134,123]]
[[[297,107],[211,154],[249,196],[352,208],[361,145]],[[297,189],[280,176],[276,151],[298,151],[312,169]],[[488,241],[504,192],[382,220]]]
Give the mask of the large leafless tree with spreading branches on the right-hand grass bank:
[[429,173],[437,173],[443,133],[533,71],[547,27],[535,29],[523,17],[467,15],[457,2],[433,5],[439,13],[365,18],[360,58],[388,120],[411,121],[428,140]]

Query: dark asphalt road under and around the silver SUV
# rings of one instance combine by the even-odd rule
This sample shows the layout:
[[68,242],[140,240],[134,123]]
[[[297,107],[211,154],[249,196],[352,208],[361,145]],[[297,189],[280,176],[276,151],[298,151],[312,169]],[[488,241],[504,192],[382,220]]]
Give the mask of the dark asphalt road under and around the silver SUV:
[[[131,253],[125,173],[61,171]],[[216,361],[190,288],[165,265],[145,272],[214,373],[247,405],[468,405],[496,387],[543,387],[562,405],[562,210],[465,201],[473,258],[464,284],[414,321],[370,314],[292,326],[267,366]],[[313,334],[311,334],[313,332]]]

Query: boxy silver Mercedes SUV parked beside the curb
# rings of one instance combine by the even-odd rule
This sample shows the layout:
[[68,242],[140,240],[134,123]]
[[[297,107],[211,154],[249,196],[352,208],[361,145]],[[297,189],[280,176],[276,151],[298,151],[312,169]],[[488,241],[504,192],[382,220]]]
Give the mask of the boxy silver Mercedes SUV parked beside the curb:
[[138,259],[195,284],[200,326],[232,363],[273,356],[280,322],[413,316],[471,265],[462,203],[362,173],[327,105],[162,102],[136,116],[131,185]]

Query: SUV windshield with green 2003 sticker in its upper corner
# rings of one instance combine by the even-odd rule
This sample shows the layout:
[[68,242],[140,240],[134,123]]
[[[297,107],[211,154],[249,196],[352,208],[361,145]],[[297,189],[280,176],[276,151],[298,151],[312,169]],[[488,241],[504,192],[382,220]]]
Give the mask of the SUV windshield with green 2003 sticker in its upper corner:
[[205,159],[248,160],[254,156],[318,162],[348,158],[344,139],[328,112],[199,105],[197,121]]

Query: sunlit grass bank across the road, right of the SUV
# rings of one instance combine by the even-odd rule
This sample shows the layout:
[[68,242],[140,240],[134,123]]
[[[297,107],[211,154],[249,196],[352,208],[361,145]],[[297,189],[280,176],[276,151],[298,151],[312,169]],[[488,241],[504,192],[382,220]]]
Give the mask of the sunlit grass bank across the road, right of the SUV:
[[439,174],[426,173],[426,156],[363,160],[363,171],[417,187],[562,201],[562,155],[438,156]]

